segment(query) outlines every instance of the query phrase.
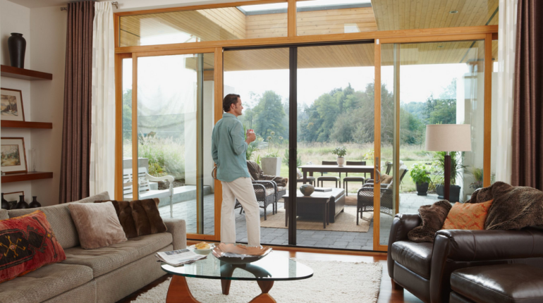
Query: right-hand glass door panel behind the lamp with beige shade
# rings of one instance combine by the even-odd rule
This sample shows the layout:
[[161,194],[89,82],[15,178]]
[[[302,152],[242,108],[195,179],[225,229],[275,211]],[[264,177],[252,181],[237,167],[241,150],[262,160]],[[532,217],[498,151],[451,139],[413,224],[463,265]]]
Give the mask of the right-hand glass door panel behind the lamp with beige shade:
[[[398,212],[413,214],[420,206],[443,199],[444,168],[439,163],[444,153],[425,151],[429,124],[471,125],[471,152],[451,152],[450,202],[467,201],[482,186],[484,41],[396,44],[383,49],[382,81],[388,90],[399,87],[398,178],[408,169],[401,178]],[[386,123],[382,125],[386,128]],[[398,168],[394,165],[394,170]],[[422,186],[417,187],[413,178],[422,180]],[[381,222],[379,242],[386,245],[389,234],[385,228],[390,224]]]

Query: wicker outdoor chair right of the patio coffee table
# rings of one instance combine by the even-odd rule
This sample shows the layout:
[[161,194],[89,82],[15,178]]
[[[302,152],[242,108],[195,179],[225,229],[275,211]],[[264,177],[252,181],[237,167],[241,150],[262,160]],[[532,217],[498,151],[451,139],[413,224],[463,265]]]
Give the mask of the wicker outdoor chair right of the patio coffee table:
[[[403,173],[400,176],[400,184],[403,180],[403,177],[407,173],[407,169],[403,171]],[[381,198],[381,207],[379,209],[380,212],[383,214],[388,214],[390,216],[394,216],[393,211],[393,182],[391,183],[382,183],[381,189],[380,189],[380,198]],[[374,197],[374,191],[373,191],[373,180],[371,182],[365,183],[360,190],[358,190],[358,198],[357,198],[357,205],[356,205],[356,225],[358,225],[358,218],[362,218],[364,216],[364,211],[373,211],[373,197]],[[360,214],[360,216],[358,216]]]

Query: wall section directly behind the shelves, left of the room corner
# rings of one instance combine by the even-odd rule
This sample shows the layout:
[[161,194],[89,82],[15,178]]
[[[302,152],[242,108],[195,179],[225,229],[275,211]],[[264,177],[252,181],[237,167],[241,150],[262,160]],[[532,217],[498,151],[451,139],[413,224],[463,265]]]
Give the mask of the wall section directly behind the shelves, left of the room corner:
[[[11,32],[20,32],[26,39],[25,68],[31,68],[30,58],[30,8],[13,4],[7,0],[0,0],[0,63],[9,66],[8,38]],[[30,81],[13,78],[1,78],[1,87],[20,89],[23,94],[23,110],[25,120],[32,120],[32,94]],[[27,153],[27,165],[30,168],[30,156],[28,150],[32,148],[32,132],[30,130],[7,129],[1,130],[1,137],[23,137],[25,152]],[[25,192],[26,202],[32,201],[32,182],[5,183],[1,187],[2,192]],[[38,199],[39,201],[39,199]]]

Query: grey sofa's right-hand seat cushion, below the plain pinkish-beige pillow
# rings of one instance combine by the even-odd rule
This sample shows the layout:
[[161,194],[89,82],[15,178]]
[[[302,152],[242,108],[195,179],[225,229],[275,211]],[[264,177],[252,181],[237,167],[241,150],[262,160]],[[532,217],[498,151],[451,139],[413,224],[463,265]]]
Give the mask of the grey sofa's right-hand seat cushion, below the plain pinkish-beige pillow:
[[144,256],[163,249],[172,242],[171,233],[133,237],[126,242],[97,249],[72,247],[66,249],[63,264],[79,264],[92,268],[94,278],[114,271]]

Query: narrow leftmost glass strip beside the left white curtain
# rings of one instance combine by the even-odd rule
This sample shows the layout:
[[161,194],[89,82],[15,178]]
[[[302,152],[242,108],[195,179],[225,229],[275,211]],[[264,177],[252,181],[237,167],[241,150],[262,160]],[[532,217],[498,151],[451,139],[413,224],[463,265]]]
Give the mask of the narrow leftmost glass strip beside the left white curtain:
[[123,195],[132,200],[132,58],[123,59]]

